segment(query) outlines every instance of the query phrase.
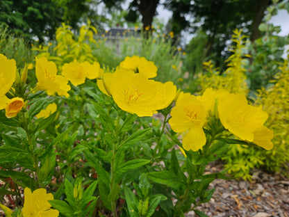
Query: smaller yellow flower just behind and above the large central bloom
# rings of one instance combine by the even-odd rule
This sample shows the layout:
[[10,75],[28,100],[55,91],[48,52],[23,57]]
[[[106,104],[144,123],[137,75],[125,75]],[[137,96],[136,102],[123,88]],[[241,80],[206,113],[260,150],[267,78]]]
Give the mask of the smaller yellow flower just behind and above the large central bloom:
[[147,61],[145,57],[139,56],[126,56],[124,61],[119,63],[119,67],[122,67],[126,70],[133,70],[134,72],[139,72],[144,77],[148,79],[156,77],[156,72],[158,67],[152,61]]

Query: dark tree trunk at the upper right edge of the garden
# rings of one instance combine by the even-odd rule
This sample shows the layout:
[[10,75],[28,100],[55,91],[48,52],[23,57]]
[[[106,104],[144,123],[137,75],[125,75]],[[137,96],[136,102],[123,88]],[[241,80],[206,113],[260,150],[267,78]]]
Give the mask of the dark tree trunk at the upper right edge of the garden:
[[257,0],[256,5],[255,5],[255,16],[253,19],[253,24],[252,24],[252,31],[251,31],[251,36],[250,40],[251,42],[254,42],[257,38],[259,38],[260,31],[258,29],[259,25],[262,22],[262,19],[264,17],[264,12],[270,3],[270,0]]

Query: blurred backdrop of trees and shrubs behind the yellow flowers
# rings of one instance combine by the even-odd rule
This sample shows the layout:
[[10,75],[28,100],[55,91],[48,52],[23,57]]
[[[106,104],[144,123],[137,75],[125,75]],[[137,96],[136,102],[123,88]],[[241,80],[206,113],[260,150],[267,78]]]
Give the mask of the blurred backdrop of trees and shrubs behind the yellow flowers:
[[[172,12],[167,24],[156,19],[158,6]],[[35,55],[61,67],[89,53],[106,70],[126,56],[145,56],[158,67],[156,80],[183,91],[246,93],[251,104],[264,105],[276,135],[272,151],[229,147],[226,168],[250,179],[255,167],[288,171],[289,38],[270,23],[279,10],[289,11],[288,0],[2,0],[0,53],[18,67],[34,63]],[[110,35],[113,27],[121,35]],[[192,35],[186,44],[184,32]],[[67,60],[58,58],[61,52]]]

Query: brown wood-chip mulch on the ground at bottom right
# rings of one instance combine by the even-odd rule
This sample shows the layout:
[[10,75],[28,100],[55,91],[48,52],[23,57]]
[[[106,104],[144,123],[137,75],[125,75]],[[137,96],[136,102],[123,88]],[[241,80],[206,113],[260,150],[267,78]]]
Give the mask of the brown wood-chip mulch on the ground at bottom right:
[[[217,161],[206,172],[218,172],[221,167]],[[251,182],[216,179],[210,188],[215,188],[210,202],[197,207],[210,217],[289,217],[289,179],[279,173],[254,170]]]

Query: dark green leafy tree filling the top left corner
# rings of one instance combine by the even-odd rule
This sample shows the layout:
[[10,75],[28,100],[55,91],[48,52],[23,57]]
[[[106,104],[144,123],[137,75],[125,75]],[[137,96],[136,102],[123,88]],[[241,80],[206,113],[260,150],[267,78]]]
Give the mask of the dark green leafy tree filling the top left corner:
[[43,42],[44,36],[53,37],[60,24],[59,8],[52,0],[1,0],[0,22],[15,34]]

